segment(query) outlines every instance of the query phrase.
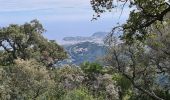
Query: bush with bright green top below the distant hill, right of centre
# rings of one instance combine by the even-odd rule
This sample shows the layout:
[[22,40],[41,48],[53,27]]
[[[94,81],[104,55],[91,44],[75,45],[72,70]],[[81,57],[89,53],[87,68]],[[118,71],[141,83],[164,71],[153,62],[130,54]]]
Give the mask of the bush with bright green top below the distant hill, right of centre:
[[85,74],[83,83],[94,97],[101,100],[119,100],[117,83],[112,80],[112,74],[108,74],[110,69],[98,63],[89,62],[84,62],[80,68]]

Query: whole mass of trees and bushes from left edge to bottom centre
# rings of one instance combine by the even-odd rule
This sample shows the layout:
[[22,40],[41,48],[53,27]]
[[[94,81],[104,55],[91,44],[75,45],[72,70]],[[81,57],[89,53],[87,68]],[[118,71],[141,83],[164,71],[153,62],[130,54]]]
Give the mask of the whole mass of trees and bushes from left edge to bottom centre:
[[43,32],[37,20],[0,29],[0,99],[118,99],[116,82],[103,66],[55,66],[67,54]]

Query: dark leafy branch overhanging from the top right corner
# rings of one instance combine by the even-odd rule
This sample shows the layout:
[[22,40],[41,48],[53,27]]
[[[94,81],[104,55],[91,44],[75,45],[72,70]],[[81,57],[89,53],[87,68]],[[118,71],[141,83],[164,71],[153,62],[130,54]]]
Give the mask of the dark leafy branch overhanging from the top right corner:
[[148,27],[157,22],[163,22],[164,17],[170,12],[170,1],[168,0],[117,0],[117,3],[116,0],[91,0],[91,5],[97,17],[113,8],[121,8],[122,11],[126,6],[134,8],[130,12],[127,22],[113,28],[112,31],[114,33],[116,29],[121,29],[122,39],[130,43],[134,42],[134,39],[145,40],[150,33]]

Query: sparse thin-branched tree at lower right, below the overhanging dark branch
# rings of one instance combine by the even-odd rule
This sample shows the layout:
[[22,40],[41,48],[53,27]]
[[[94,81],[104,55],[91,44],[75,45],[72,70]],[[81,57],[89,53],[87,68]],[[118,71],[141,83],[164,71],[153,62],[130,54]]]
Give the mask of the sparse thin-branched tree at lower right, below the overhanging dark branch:
[[[114,42],[105,58],[115,71],[127,78],[133,87],[138,89],[137,93],[147,94],[154,100],[167,100],[166,97],[159,97],[159,94],[156,94],[157,90],[169,91],[169,86],[157,82],[164,74],[169,75],[169,55],[162,51],[166,48],[156,46],[165,46],[169,39],[166,37],[166,42],[164,40],[161,42],[162,40],[148,39],[152,41],[148,44],[152,45],[145,45],[140,41],[131,45]],[[168,78],[165,80],[168,81]]]

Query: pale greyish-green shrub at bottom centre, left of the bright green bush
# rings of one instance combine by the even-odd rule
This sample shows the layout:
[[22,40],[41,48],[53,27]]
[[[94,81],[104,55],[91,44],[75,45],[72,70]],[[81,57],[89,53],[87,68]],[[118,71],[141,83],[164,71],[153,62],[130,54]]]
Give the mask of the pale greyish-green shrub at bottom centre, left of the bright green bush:
[[68,92],[81,87],[84,80],[84,73],[78,67],[59,67],[50,73],[51,78],[55,81],[54,94],[57,99],[62,99]]

